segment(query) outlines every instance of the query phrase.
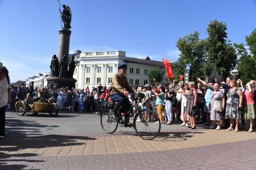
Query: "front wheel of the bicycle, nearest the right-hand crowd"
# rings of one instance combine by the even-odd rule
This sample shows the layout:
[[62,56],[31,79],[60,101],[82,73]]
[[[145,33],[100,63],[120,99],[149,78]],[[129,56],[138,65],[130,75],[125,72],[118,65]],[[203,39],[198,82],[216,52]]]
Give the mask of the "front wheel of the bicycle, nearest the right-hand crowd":
[[140,111],[134,118],[134,128],[137,135],[145,140],[152,140],[158,136],[161,130],[160,120],[151,110]]

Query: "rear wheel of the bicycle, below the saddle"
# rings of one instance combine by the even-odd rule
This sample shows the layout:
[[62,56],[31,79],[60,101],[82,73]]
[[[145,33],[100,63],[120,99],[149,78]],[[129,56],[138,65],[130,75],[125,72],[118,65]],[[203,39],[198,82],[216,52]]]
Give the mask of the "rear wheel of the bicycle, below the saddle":
[[110,109],[105,108],[101,111],[101,127],[105,133],[112,134],[118,126],[117,121],[111,115]]

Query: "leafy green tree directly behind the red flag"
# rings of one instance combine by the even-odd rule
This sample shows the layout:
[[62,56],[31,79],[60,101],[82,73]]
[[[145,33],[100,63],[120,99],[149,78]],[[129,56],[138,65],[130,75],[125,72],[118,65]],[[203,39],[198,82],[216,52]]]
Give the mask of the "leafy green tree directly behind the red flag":
[[180,58],[173,63],[177,76],[184,74],[186,64],[192,64],[190,80],[196,81],[198,77],[204,74],[203,68],[206,58],[205,41],[199,39],[199,33],[195,31],[190,35],[180,38],[176,46],[180,50]]

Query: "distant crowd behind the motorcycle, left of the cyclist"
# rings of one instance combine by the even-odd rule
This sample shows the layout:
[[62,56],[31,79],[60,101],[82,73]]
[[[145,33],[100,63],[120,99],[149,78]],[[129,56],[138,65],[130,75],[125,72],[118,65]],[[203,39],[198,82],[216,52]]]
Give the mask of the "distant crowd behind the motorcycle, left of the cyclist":
[[14,109],[16,99],[25,99],[30,94],[31,99],[43,97],[45,99],[53,97],[60,111],[71,112],[93,112],[99,114],[100,103],[110,102],[107,87],[101,85],[97,88],[84,90],[75,88],[33,88],[33,87],[13,87],[11,86],[11,102],[7,109]]

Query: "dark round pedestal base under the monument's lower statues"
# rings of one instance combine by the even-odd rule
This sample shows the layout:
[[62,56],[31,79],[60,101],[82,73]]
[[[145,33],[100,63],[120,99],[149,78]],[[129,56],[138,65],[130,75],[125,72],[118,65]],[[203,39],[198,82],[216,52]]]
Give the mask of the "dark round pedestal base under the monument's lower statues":
[[48,77],[46,78],[48,81],[48,87],[62,88],[69,87],[75,88],[76,80],[69,77]]

